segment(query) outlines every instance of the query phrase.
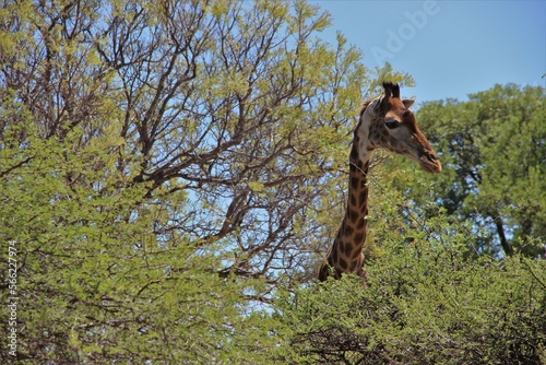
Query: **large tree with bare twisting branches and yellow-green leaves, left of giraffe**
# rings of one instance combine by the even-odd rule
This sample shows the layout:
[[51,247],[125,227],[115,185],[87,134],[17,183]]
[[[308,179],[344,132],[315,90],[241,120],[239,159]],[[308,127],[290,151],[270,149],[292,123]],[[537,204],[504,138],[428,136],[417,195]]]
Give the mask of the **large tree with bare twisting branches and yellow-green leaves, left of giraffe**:
[[304,1],[1,12],[0,239],[19,245],[20,358],[268,362],[282,340],[248,301],[314,273],[375,85],[361,55],[320,40],[329,17]]

